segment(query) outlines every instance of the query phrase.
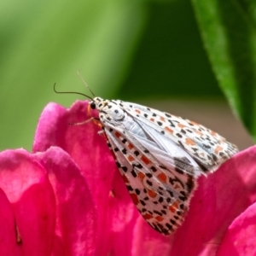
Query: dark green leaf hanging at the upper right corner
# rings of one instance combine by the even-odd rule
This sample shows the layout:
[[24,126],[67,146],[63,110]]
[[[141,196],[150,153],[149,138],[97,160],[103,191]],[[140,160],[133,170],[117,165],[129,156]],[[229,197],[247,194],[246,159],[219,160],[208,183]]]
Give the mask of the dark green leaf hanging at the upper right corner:
[[256,140],[256,2],[192,3],[218,83]]

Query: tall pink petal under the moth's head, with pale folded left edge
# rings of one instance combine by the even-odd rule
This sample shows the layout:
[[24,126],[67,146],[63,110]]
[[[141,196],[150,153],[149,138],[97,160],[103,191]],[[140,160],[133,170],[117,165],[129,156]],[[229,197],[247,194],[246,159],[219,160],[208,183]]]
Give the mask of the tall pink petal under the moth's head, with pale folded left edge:
[[[91,114],[96,116],[94,112]],[[134,219],[141,217],[119,175],[105,138],[97,133],[101,130],[97,122],[69,125],[88,119],[88,102],[75,102],[66,112],[56,104],[49,104],[39,120],[33,151],[44,151],[50,145],[57,145],[79,165],[97,208],[96,255],[113,252],[131,255],[131,239],[124,237],[133,233]],[[55,125],[49,125],[49,122]]]

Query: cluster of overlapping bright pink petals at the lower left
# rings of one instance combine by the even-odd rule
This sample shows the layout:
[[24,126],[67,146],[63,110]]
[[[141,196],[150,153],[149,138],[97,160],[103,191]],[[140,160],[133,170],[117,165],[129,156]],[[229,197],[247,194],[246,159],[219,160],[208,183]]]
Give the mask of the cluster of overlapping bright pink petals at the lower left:
[[61,148],[0,153],[0,255],[94,255],[96,209]]

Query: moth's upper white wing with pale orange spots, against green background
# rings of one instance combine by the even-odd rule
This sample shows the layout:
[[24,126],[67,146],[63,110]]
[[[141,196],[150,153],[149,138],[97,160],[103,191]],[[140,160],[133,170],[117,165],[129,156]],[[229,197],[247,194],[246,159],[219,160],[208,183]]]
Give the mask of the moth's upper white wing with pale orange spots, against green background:
[[[116,101],[121,102],[121,101]],[[152,127],[188,152],[204,172],[215,171],[219,165],[236,154],[235,145],[203,125],[169,113],[130,102],[121,102],[122,109],[142,127]]]

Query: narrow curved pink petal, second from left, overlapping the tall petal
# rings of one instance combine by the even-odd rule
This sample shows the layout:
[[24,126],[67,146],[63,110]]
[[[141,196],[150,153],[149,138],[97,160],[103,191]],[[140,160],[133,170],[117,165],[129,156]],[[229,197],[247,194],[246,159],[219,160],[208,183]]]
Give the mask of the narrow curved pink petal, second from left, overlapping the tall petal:
[[61,148],[49,148],[35,158],[47,170],[55,192],[55,254],[95,255],[96,209],[79,167]]

